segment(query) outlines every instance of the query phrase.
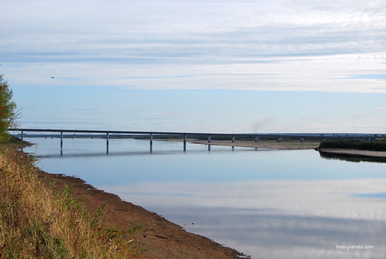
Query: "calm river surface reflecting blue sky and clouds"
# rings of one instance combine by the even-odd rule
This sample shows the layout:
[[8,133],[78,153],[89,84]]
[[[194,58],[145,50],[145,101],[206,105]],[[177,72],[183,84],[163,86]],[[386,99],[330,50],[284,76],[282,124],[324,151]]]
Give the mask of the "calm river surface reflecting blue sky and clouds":
[[[26,139],[39,166],[252,258],[386,258],[386,163],[182,142]],[[192,224],[194,223],[194,224]],[[337,245],[361,245],[337,248]],[[365,246],[373,248],[365,249]]]

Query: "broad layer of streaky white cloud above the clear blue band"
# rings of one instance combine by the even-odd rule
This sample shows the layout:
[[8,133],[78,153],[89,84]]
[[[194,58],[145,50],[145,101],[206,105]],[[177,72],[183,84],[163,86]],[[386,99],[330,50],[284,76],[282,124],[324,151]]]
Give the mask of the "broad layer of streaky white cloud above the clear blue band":
[[382,2],[21,2],[0,18],[16,83],[386,92]]

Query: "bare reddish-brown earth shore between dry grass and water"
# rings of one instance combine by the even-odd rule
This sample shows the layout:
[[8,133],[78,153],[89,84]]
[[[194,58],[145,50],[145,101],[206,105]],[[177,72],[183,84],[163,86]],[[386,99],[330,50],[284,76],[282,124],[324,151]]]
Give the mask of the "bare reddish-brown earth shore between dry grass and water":
[[[30,163],[27,154],[14,152],[21,163]],[[85,205],[88,212],[93,213],[106,202],[104,215],[109,225],[121,230],[135,229],[133,233],[135,243],[141,251],[140,258],[247,258],[234,249],[222,245],[200,235],[186,232],[183,227],[169,222],[162,215],[149,212],[141,206],[123,201],[119,196],[96,190],[80,178],[64,176],[63,174],[49,174],[39,170],[38,176],[46,186],[54,184],[58,190],[65,190],[73,186],[71,193],[80,203]],[[54,190],[52,190],[54,191]],[[112,227],[113,228],[113,227]]]

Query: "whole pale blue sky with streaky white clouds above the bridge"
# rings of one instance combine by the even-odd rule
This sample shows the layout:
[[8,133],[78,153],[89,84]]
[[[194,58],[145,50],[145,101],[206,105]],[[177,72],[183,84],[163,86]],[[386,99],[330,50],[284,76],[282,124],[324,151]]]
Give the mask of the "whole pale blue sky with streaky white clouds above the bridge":
[[20,128],[386,133],[381,0],[1,5]]

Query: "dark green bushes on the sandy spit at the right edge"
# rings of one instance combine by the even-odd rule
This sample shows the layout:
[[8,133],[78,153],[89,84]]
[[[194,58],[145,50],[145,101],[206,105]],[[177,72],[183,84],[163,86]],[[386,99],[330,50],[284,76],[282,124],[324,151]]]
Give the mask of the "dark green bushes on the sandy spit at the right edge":
[[359,139],[332,140],[320,142],[319,148],[359,149],[369,151],[386,151],[386,140],[360,141]]

